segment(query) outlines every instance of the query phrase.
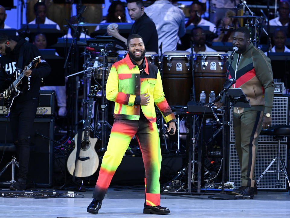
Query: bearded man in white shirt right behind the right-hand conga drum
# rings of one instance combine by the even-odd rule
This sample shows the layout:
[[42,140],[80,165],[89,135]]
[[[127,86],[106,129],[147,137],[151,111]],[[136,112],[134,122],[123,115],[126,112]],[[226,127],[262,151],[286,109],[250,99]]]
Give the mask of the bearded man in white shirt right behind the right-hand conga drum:
[[[194,27],[191,30],[190,35],[191,35],[190,39],[192,40],[192,44],[194,46],[193,53],[196,54],[197,52],[216,52],[216,50],[211,49],[205,44],[206,35],[201,27]],[[186,49],[186,51],[191,52],[191,48]]]

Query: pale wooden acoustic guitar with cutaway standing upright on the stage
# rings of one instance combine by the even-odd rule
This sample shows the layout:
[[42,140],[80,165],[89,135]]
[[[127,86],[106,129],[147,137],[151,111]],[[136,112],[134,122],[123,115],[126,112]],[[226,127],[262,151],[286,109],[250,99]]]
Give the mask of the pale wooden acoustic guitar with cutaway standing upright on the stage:
[[67,160],[67,169],[71,175],[73,175],[73,171],[75,171],[76,177],[87,177],[93,175],[99,165],[99,157],[97,152],[95,151],[95,144],[98,141],[98,138],[91,138],[89,136],[90,125],[91,125],[91,117],[92,117],[92,108],[94,103],[94,96],[97,93],[97,86],[91,90],[89,105],[88,105],[88,114],[87,119],[85,121],[85,130],[82,132],[82,142],[81,149],[79,152],[79,157],[76,162],[76,151],[77,151],[77,143],[78,143],[78,134],[75,135],[75,144],[76,147],[70,153],[69,158]]

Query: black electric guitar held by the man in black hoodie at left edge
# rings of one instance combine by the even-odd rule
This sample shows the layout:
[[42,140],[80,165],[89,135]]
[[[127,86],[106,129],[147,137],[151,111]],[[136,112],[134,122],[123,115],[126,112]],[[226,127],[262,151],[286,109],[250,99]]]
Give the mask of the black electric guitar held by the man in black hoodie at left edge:
[[[40,56],[34,58],[33,61],[30,62],[30,64],[26,67],[26,70],[30,70],[32,67],[36,67],[38,63],[40,63]],[[22,73],[18,75],[15,81],[14,78],[9,78],[4,81],[5,84],[9,85],[9,87],[6,86],[8,88],[3,93],[4,105],[6,109],[11,108],[14,98],[20,94],[20,90],[17,86],[20,84],[20,81],[24,76],[24,71],[22,71]]]

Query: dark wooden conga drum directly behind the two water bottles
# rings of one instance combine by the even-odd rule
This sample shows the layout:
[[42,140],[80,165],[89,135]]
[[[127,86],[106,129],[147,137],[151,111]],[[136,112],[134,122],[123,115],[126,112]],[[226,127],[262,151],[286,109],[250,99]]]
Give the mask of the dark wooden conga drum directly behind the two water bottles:
[[195,96],[199,100],[201,91],[205,91],[206,102],[214,91],[217,96],[224,87],[228,55],[225,52],[198,52],[195,54],[194,85]]

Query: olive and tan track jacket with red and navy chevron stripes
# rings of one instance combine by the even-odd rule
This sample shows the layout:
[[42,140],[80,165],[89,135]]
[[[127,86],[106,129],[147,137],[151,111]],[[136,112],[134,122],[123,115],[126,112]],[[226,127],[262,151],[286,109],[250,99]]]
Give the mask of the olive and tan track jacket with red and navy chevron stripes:
[[[238,58],[240,60],[238,62]],[[228,65],[230,58],[226,62]],[[236,70],[237,68],[237,70]],[[236,83],[233,88],[241,88],[246,98],[250,100],[251,108],[234,108],[235,113],[247,110],[264,111],[271,113],[273,104],[274,82],[271,60],[264,52],[250,43],[242,54],[235,54],[233,63],[229,69],[229,79],[234,78]]]

